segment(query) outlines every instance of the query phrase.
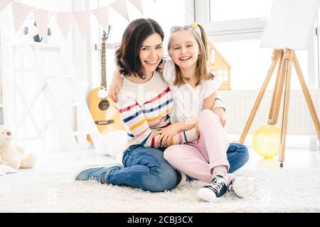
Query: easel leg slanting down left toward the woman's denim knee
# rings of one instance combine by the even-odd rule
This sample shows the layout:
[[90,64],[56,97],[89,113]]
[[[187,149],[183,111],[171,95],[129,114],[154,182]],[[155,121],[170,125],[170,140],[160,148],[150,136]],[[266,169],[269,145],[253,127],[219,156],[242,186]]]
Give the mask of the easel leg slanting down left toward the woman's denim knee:
[[252,124],[252,121],[253,119],[255,118],[255,114],[257,114],[257,109],[259,108],[260,106],[260,103],[261,103],[261,100],[262,100],[262,97],[265,95],[265,90],[267,89],[267,86],[270,82],[270,78],[273,74],[273,71],[274,71],[274,67],[277,65],[277,62],[279,60],[279,57],[280,57],[280,53],[281,53],[282,50],[274,50],[273,52],[273,62],[272,62],[272,65],[270,66],[270,70],[269,72],[267,73],[267,77],[265,78],[265,82],[262,84],[262,88],[260,90],[260,93],[259,95],[257,96],[257,100],[255,101],[255,105],[253,106],[253,109],[251,111],[251,114],[247,120],[247,123],[245,124],[245,129],[243,130],[242,134],[241,134],[241,137],[240,137],[240,140],[239,142],[240,143],[243,143],[245,142],[245,138],[247,136],[247,133],[249,132],[250,130],[250,127],[251,127],[251,124]]

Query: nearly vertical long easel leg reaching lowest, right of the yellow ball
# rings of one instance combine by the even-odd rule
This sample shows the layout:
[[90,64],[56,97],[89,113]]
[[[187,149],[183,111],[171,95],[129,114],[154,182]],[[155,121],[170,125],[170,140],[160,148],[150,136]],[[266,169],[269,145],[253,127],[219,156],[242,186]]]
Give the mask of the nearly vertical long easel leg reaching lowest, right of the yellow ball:
[[283,167],[284,151],[286,148],[287,124],[288,124],[288,114],[289,114],[290,82],[291,82],[291,69],[292,69],[292,52],[291,52],[291,50],[286,50],[286,49],[284,50],[284,65],[286,65],[286,67],[285,67],[286,87],[284,90],[281,140],[280,140],[280,149],[279,149],[280,167]]

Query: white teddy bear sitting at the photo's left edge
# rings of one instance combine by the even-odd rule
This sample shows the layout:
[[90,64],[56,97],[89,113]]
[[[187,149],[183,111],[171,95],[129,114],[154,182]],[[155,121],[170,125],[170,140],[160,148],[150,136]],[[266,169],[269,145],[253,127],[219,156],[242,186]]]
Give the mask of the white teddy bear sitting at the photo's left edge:
[[36,157],[25,155],[23,148],[12,143],[13,135],[6,126],[0,126],[0,165],[7,165],[18,170],[19,168],[32,168]]

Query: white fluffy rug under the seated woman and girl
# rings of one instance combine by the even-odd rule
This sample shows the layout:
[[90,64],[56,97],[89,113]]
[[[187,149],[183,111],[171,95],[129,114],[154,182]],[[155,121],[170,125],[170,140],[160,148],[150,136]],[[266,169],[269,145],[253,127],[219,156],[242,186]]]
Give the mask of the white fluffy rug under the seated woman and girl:
[[320,212],[319,173],[320,167],[240,171],[256,177],[255,194],[239,199],[229,193],[207,203],[196,196],[202,182],[151,193],[74,182],[73,172],[21,170],[0,177],[0,212]]

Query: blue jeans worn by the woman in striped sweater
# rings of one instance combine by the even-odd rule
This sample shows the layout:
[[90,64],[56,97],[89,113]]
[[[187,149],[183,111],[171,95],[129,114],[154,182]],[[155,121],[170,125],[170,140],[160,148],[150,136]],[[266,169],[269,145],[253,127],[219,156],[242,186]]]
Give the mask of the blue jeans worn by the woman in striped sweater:
[[[114,169],[107,177],[108,184],[126,185],[150,192],[164,192],[176,187],[178,171],[164,160],[165,148],[145,148],[132,145],[122,158],[122,169]],[[229,172],[235,172],[249,159],[247,148],[231,143],[228,151]]]

